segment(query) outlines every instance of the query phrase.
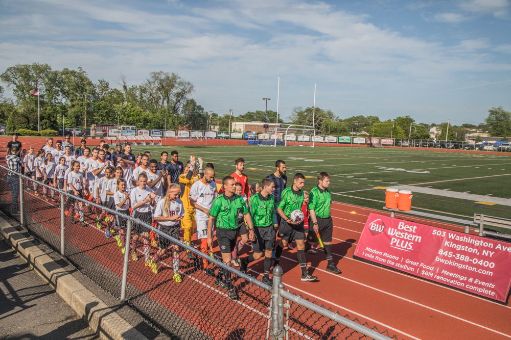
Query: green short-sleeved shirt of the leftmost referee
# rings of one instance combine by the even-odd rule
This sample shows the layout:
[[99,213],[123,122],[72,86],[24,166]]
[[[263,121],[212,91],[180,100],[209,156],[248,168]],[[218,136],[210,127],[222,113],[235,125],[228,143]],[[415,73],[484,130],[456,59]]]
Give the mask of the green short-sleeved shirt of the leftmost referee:
[[248,213],[245,201],[240,195],[234,194],[231,197],[225,193],[215,198],[210,209],[210,216],[217,218],[217,228],[237,229],[238,215]]

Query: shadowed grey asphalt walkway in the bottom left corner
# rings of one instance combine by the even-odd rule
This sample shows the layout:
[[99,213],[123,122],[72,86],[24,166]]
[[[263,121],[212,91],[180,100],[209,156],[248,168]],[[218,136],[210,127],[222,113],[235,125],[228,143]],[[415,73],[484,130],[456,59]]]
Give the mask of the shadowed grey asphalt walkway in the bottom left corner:
[[98,339],[86,322],[0,239],[0,339]]

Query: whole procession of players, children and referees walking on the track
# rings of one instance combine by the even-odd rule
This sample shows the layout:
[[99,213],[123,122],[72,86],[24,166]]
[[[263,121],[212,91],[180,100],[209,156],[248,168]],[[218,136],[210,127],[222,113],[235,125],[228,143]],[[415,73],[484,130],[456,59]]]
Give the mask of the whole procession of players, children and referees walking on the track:
[[[46,184],[53,184],[61,190],[65,188],[70,194],[95,200],[96,203],[114,208],[123,214],[131,214],[134,218],[148,224],[152,223],[153,226],[157,226],[176,239],[180,238],[182,226],[183,239],[188,244],[194,229],[197,228],[197,238],[201,241],[204,252],[212,250],[213,237],[216,236],[224,263],[229,266],[238,265],[242,272],[246,272],[248,264],[264,254],[263,282],[267,284],[271,284],[269,272],[272,253],[275,259],[273,265],[278,265],[283,249],[293,240],[298,248],[298,263],[302,270],[301,280],[316,280],[317,277],[307,272],[305,253],[312,251],[312,246],[318,242],[319,232],[324,241],[324,252],[328,260],[327,270],[340,273],[332,261],[332,218],[330,217],[331,197],[328,190],[330,184],[328,173],[318,175],[318,186],[310,193],[308,207],[312,228],[309,228],[308,242],[304,242],[304,222],[293,222],[290,219],[290,213],[304,206],[305,195],[301,189],[304,186],[305,177],[300,173],[295,174],[293,185],[286,189],[286,165],[282,160],[275,163],[275,173],[263,179],[259,191],[257,185],[252,184],[252,197],[250,197],[248,177],[243,174],[244,160],[241,158],[235,162],[235,173],[223,178],[222,189],[217,192],[213,164],[208,163],[202,172],[202,161],[191,158],[187,166],[183,166],[178,161],[177,151],[171,152],[171,162],[167,161],[168,153],[165,151],[161,153],[161,162],[149,161],[150,154],[139,155],[139,159],[134,162],[134,155],[130,153],[128,145],[125,150],[122,150],[122,145],[117,146],[115,153],[118,157],[115,161],[112,160],[113,152],[105,150],[105,146],[94,148],[92,152],[85,147],[83,155],[78,156],[76,160],[70,146],[66,146],[64,153],[60,155],[62,150],[59,150],[58,142],[55,149],[41,149],[37,156],[33,154],[33,148],[29,149],[28,155],[24,158],[26,174]],[[46,157],[44,157],[45,151],[48,151]],[[106,159],[107,156],[110,160]],[[53,162],[53,158],[58,158],[58,165]],[[113,164],[117,167],[110,166]],[[35,185],[34,190],[38,195]],[[45,199],[48,200],[45,190],[43,192]],[[54,199],[53,193],[52,191],[52,199]],[[72,223],[76,217],[80,217],[80,222],[85,225],[85,206],[81,203],[77,204],[72,199],[68,200],[66,205]],[[308,213],[307,207],[305,209]],[[78,212],[75,215],[76,211]],[[97,216],[98,228],[102,227],[103,218],[107,222],[106,235],[109,237],[110,232],[114,231],[111,229],[114,219],[105,217],[103,211]],[[123,253],[125,251],[124,224],[117,219],[118,233],[115,238],[118,245],[122,247]],[[216,235],[214,235],[215,226]],[[156,244],[154,236],[137,225],[134,226],[133,231],[134,237],[130,245],[132,259],[137,259],[136,246],[138,242],[142,243],[146,266],[157,273],[158,260],[166,254],[170,242],[165,238],[159,238]],[[277,233],[281,240],[274,249]],[[238,236],[241,236],[240,241]],[[248,240],[251,241],[252,253],[239,259],[238,251]],[[152,257],[151,246],[159,248]],[[171,249],[173,278],[176,282],[181,282],[178,248],[173,245]],[[200,263],[191,253],[188,253],[188,256],[196,263]],[[205,259],[202,262],[204,272],[207,275],[216,276],[215,283],[227,289],[229,296],[234,298],[236,293],[230,283],[230,273],[220,269],[219,274],[216,275]]]

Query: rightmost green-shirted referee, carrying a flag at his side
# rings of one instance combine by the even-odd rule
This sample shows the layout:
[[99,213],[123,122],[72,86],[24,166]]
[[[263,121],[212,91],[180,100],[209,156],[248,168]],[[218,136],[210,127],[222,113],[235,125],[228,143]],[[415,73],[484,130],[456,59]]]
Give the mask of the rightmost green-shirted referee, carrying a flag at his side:
[[335,266],[332,259],[332,216],[330,216],[330,205],[332,197],[330,195],[330,175],[328,172],[320,172],[318,174],[318,185],[313,188],[309,194],[309,233],[307,234],[306,245],[308,251],[311,247],[319,242],[317,233],[321,237],[324,245],[324,254],[327,255],[327,271],[339,274],[341,271]]

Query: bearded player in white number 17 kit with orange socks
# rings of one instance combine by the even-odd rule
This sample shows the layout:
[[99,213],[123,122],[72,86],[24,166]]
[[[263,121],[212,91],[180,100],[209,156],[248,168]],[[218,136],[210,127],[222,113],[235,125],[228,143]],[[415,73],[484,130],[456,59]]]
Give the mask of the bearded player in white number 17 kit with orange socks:
[[[195,208],[195,222],[197,224],[197,239],[201,242],[202,252],[207,254],[207,221],[210,218],[210,209],[213,200],[218,196],[217,186],[214,182],[215,170],[206,168],[204,177],[195,182],[190,188],[190,204]],[[209,276],[215,276],[215,272],[207,268],[206,259],[203,259],[204,273]]]

